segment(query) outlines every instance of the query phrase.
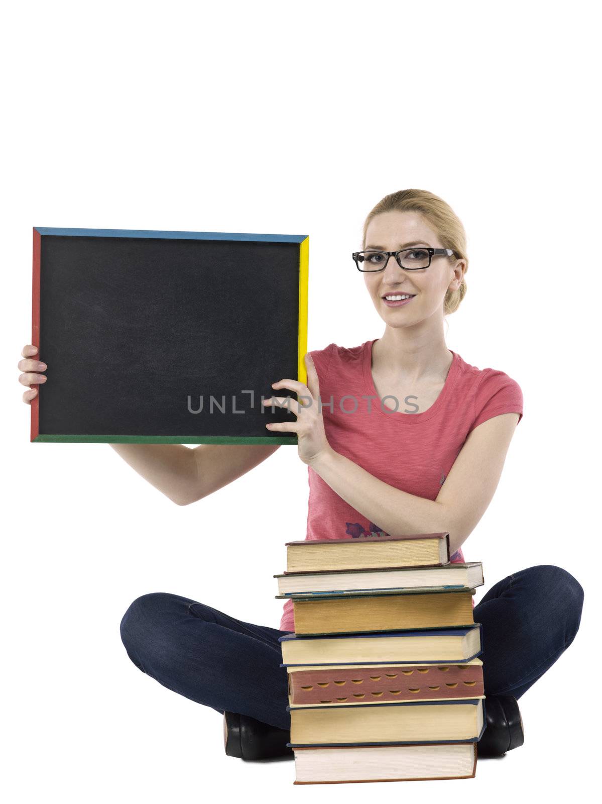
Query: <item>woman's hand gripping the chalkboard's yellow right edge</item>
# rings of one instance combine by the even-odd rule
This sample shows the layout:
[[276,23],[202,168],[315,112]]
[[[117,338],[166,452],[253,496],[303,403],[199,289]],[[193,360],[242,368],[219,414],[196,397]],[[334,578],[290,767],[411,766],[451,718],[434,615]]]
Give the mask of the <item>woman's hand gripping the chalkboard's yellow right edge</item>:
[[277,383],[272,383],[272,388],[289,388],[290,391],[296,392],[297,400],[293,400],[291,396],[272,396],[271,399],[263,400],[263,404],[276,404],[279,408],[288,408],[297,416],[297,421],[294,422],[278,421],[265,426],[268,430],[280,433],[297,433],[299,457],[305,464],[311,465],[318,457],[329,452],[331,447],[326,439],[321,410],[318,409],[320,384],[309,352],[305,355],[305,368],[306,385],[297,379],[281,379]]

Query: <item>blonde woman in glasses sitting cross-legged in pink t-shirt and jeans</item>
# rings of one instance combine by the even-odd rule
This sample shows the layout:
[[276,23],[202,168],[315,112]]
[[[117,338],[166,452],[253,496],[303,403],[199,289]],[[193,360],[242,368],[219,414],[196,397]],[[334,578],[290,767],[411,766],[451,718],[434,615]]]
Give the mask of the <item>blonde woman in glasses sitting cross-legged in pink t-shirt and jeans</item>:
[[[307,384],[280,379],[272,388],[282,396],[264,403],[288,404],[294,420],[266,429],[297,433],[309,474],[307,539],[448,531],[451,560],[464,561],[462,544],[493,497],[522,418],[514,379],[473,367],[445,345],[444,316],[466,292],[464,228],[436,195],[399,191],[367,216],[354,261],[385,323],[383,336],[353,348],[330,343],[305,355]],[[22,384],[46,379],[36,373],[46,369],[31,357],[36,351],[23,350]],[[303,404],[286,392],[296,392]],[[31,388],[23,399],[36,393]],[[112,446],[178,505],[206,497],[278,449]],[[575,638],[583,599],[573,576],[543,564],[498,581],[474,607],[483,630],[486,695],[478,756],[522,745],[517,699]],[[293,756],[286,747],[289,700],[278,642],[293,630],[291,600],[280,628],[167,593],[138,597],[121,620],[133,663],[223,713],[226,753],[245,760]]]

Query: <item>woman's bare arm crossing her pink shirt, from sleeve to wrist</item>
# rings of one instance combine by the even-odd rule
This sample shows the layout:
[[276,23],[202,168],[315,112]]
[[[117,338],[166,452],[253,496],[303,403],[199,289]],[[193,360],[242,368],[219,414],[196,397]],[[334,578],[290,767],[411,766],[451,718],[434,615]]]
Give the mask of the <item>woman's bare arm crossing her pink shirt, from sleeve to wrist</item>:
[[517,424],[518,413],[502,413],[475,427],[434,501],[389,486],[331,448],[309,466],[346,503],[391,535],[448,532],[453,556],[493,498]]

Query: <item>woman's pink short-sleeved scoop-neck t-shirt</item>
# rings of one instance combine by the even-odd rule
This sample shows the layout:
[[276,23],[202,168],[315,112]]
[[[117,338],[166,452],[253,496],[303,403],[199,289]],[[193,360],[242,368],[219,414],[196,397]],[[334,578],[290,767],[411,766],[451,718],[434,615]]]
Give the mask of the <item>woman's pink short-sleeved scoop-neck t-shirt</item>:
[[[330,343],[311,352],[326,438],[335,452],[389,486],[435,500],[471,430],[501,413],[517,412],[518,421],[522,419],[521,388],[503,371],[471,366],[450,350],[453,361],[434,404],[421,413],[404,413],[416,408],[408,396],[399,400],[395,411],[381,404],[372,379],[375,340],[351,349]],[[392,397],[389,400],[395,405]],[[381,530],[339,497],[311,466],[307,469],[305,539],[347,539]],[[464,561],[461,549],[450,560]],[[292,600],[285,601],[280,628],[295,629]]]

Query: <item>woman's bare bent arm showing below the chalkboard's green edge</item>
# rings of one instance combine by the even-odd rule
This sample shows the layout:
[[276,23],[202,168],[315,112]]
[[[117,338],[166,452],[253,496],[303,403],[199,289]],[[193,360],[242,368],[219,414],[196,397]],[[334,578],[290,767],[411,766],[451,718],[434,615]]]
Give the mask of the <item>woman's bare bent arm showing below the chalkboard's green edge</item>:
[[177,505],[227,486],[276,452],[279,444],[112,444],[151,486]]

